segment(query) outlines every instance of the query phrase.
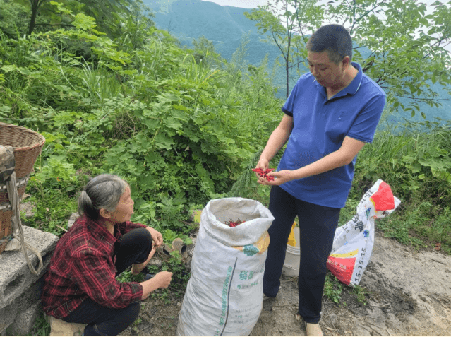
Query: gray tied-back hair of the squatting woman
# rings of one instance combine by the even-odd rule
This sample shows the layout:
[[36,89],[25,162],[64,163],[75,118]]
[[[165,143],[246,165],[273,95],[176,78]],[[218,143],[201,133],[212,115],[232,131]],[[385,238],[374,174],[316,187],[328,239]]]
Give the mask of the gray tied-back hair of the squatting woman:
[[78,213],[97,221],[100,209],[109,212],[116,209],[127,186],[127,182],[116,175],[98,175],[90,179],[78,197]]

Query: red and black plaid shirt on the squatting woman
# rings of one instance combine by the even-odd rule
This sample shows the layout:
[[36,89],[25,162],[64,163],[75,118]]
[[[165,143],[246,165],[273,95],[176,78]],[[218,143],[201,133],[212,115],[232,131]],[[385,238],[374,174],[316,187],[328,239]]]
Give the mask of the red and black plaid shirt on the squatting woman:
[[90,297],[109,308],[125,308],[139,302],[143,287],[136,282],[116,280],[115,250],[126,232],[146,227],[126,221],[107,228],[83,215],[61,237],[45,276],[42,293],[44,312],[56,318],[68,316]]

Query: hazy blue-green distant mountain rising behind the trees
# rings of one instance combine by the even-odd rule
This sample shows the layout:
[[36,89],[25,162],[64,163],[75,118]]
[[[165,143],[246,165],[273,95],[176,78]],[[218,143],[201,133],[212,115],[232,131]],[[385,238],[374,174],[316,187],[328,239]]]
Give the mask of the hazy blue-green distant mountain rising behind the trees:
[[[258,66],[266,54],[268,54],[269,68],[279,57],[280,52],[277,46],[261,42],[261,35],[258,33],[255,23],[244,16],[244,12],[251,11],[248,8],[238,8],[231,6],[220,6],[209,1],[184,1],[184,0],[143,0],[144,4],[152,8],[155,14],[155,24],[157,28],[169,30],[169,32],[179,39],[182,45],[192,46],[192,41],[200,36],[205,36],[213,42],[215,50],[224,59],[231,59],[232,54],[239,47],[241,37],[248,34],[248,52],[246,61],[248,64]],[[369,50],[367,51],[369,53]],[[361,52],[364,56],[365,52]],[[270,69],[268,69],[270,71]],[[305,71],[308,69],[305,68]],[[280,67],[274,78],[274,85],[279,87],[279,97],[284,97],[285,77],[284,69]],[[290,81],[290,89],[296,83],[296,76]],[[435,90],[440,93],[439,98],[449,97],[445,90],[437,84]],[[408,100],[401,100],[407,104]],[[451,119],[451,102],[443,101],[442,107],[432,108],[426,104],[421,104],[421,111],[426,114],[428,120],[434,117],[441,119]],[[403,118],[410,121],[422,121],[423,118],[416,114],[412,119],[410,114],[399,111],[390,116],[390,122],[399,122]]]

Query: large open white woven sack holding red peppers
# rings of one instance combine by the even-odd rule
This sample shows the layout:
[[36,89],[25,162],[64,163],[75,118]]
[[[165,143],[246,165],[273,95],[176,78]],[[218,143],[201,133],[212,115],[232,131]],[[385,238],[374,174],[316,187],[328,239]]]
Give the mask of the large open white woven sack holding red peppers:
[[[226,221],[245,221],[229,227]],[[272,217],[258,201],[225,198],[202,211],[176,336],[248,336],[263,307]]]

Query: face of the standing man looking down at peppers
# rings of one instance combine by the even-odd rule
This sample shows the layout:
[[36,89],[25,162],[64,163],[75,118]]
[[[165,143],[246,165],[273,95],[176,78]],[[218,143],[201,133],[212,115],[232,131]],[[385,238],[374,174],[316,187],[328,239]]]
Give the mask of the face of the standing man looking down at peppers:
[[[330,61],[329,54],[325,52],[308,52],[308,65],[310,72],[315,76],[316,81],[325,88],[341,88],[344,78],[344,64],[348,57],[345,57],[339,64]],[[346,60],[346,61],[345,61]]]

